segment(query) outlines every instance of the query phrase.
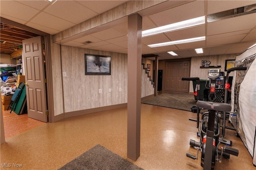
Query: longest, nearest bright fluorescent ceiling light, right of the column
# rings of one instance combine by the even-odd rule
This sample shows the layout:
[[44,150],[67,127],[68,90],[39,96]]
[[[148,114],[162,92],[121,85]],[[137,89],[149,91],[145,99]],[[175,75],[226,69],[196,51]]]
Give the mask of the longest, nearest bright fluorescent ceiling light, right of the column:
[[142,37],[151,36],[154,34],[160,34],[163,32],[170,32],[170,31],[179,30],[182,28],[188,28],[192,26],[198,26],[201,24],[205,24],[205,16],[200,16],[198,18],[193,18],[190,20],[182,21],[182,22],[176,22],[174,24],[169,24],[166,26],[152,28],[150,30],[145,30],[145,31],[142,31]]

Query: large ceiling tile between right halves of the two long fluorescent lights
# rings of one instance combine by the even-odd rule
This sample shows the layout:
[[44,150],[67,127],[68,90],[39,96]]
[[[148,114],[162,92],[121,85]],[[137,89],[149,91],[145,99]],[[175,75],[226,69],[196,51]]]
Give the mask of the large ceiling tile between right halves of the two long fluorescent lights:
[[205,25],[195,26],[172,32],[166,32],[165,34],[172,41],[202,37],[205,36]]

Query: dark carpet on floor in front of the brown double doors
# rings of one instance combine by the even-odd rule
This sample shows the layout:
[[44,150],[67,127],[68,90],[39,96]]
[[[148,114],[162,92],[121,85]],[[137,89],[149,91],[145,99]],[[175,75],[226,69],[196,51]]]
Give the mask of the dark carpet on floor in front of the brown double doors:
[[191,111],[191,107],[196,105],[193,94],[188,93],[162,93],[152,99],[142,102],[144,104],[169,107],[184,111]]

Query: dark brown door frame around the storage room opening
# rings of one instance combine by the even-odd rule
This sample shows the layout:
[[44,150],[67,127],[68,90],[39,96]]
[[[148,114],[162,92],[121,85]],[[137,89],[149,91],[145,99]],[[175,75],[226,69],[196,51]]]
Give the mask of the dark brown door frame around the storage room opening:
[[[40,30],[36,30],[34,28],[25,26],[23,24],[8,20],[6,18],[0,17],[1,22],[4,22],[6,24],[16,26],[19,28],[22,28],[24,30],[27,30],[29,32],[34,32],[35,34],[38,34],[40,36],[44,37],[44,44],[45,44],[45,59],[46,59],[46,96],[47,96],[47,104],[48,104],[48,122],[54,122],[54,101],[53,101],[53,85],[52,85],[52,59],[51,59],[51,42],[50,42],[50,34],[42,32]],[[2,134],[2,133],[1,133]]]

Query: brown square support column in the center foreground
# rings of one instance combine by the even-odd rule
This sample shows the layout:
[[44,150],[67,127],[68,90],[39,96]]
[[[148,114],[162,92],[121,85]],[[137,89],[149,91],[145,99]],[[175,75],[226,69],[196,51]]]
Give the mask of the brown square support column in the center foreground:
[[132,14],[128,16],[127,157],[134,161],[140,156],[141,38],[142,17]]

